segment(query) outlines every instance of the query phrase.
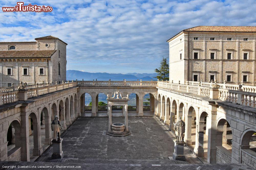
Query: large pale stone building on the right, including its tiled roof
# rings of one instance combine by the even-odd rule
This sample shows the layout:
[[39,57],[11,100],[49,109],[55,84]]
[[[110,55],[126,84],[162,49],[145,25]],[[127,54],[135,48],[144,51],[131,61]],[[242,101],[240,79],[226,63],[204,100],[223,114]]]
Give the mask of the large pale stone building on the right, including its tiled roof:
[[[170,81],[255,85],[256,27],[198,26],[169,43]],[[175,73],[175,74],[174,74]]]

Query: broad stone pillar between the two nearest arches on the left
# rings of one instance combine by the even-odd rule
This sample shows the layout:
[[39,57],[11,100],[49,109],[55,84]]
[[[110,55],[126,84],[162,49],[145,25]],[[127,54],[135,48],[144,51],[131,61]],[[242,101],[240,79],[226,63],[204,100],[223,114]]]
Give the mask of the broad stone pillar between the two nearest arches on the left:
[[26,114],[26,107],[21,108],[20,118],[21,118],[21,161],[30,161],[29,155],[29,119]]

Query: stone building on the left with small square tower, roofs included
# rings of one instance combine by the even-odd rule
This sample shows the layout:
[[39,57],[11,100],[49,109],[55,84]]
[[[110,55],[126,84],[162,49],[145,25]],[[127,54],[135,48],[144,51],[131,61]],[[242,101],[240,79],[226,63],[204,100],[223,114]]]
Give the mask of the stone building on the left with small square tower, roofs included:
[[35,42],[0,42],[0,87],[66,81],[66,46],[57,37]]

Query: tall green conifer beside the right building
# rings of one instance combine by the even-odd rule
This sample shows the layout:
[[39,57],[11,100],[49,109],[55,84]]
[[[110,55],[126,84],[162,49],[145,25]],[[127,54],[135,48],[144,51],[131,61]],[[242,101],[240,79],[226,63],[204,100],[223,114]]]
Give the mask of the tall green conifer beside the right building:
[[155,72],[158,74],[155,78],[158,80],[169,80],[169,64],[167,62],[167,58],[162,59],[160,63],[160,67],[158,69],[155,69]]

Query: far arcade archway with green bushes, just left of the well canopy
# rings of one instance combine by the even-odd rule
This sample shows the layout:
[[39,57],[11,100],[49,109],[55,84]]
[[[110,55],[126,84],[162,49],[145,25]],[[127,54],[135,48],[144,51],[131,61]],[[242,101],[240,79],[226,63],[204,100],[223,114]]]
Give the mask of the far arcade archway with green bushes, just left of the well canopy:
[[107,101],[107,95],[104,93],[99,93],[96,96],[96,114],[98,115],[106,115],[108,113],[108,101]]

